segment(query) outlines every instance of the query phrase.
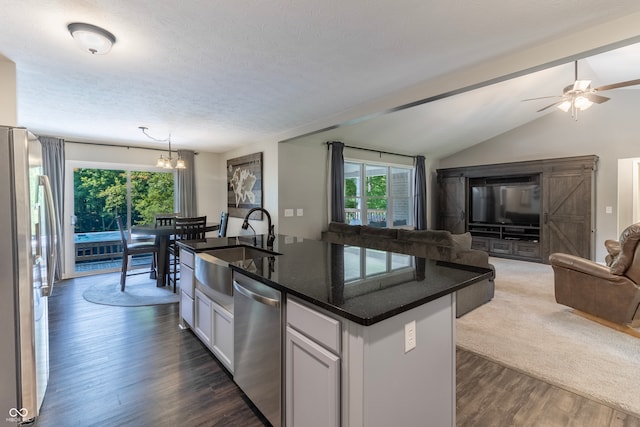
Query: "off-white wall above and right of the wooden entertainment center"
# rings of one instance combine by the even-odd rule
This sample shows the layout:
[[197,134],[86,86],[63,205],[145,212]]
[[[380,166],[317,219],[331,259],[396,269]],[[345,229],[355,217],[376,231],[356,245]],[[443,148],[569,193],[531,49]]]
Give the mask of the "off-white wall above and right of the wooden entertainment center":
[[[632,195],[618,194],[619,159],[640,157],[638,90],[616,90],[605,104],[594,105],[574,121],[568,113],[553,111],[539,120],[499,135],[482,144],[442,159],[441,168],[505,163],[595,154],[596,172],[596,261],[606,255],[604,240],[617,239],[619,209],[621,218],[630,218]],[[622,164],[631,165],[632,162]],[[631,166],[629,166],[631,167]],[[630,175],[631,171],[624,172]],[[606,213],[611,206],[613,212]],[[620,224],[621,228],[628,224]]]

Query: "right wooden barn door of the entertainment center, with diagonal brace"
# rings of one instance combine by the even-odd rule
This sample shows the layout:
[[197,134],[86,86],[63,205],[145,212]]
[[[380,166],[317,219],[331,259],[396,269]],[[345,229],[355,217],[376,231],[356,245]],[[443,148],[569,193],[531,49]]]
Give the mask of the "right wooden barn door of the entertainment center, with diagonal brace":
[[543,174],[543,261],[554,252],[593,258],[593,179],[588,167]]

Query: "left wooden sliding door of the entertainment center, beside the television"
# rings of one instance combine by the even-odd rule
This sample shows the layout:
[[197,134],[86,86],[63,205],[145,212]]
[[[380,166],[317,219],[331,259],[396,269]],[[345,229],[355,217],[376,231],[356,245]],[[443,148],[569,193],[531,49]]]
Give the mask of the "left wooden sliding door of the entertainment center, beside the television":
[[438,177],[438,223],[455,234],[466,231],[466,178]]

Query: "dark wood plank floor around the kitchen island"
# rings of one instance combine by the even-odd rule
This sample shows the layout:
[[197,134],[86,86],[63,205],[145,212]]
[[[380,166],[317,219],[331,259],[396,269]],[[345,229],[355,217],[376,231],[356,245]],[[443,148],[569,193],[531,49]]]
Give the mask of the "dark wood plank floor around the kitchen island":
[[[58,284],[49,299],[51,374],[38,426],[268,425],[195,335],[178,328],[177,304],[89,303],[82,292],[98,277]],[[639,418],[473,353],[457,356],[458,426],[640,427]]]

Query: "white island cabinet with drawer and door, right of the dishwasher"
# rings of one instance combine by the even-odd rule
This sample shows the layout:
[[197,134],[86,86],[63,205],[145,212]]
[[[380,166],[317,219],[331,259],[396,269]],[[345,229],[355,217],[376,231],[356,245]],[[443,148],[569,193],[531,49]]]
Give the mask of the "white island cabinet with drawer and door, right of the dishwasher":
[[340,425],[340,321],[287,301],[286,425]]

